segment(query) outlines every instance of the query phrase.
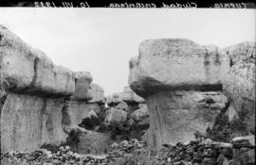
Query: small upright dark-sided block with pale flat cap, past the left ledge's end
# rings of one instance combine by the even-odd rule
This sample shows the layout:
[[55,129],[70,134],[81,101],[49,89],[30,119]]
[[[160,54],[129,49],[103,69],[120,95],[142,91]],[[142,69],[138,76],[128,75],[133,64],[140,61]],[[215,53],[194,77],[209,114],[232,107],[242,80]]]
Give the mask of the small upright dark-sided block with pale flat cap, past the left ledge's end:
[[92,75],[88,72],[75,73],[76,90],[72,97],[77,100],[91,100],[93,98],[90,91],[92,80]]

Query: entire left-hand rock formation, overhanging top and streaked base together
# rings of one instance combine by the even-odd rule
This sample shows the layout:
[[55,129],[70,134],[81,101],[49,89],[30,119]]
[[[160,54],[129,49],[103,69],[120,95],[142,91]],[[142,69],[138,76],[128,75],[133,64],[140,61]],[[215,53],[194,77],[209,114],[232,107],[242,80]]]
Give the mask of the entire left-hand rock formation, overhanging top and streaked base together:
[[86,132],[79,124],[92,110],[101,112],[104,91],[89,73],[55,65],[3,26],[0,77],[2,152],[60,145],[73,129]]

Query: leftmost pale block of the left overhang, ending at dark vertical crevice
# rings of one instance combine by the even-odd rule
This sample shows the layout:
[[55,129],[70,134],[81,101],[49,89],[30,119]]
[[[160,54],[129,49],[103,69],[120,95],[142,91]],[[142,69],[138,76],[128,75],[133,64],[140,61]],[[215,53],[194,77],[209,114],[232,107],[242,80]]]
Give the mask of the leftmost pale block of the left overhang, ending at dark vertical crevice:
[[7,89],[23,90],[32,82],[36,56],[24,41],[0,26],[0,73]]

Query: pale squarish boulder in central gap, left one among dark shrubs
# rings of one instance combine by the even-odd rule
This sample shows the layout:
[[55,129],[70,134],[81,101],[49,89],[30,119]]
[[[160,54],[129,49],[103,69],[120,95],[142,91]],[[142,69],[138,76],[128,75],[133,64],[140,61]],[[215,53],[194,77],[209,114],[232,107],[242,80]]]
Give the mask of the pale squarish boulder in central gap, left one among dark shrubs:
[[127,119],[127,112],[118,108],[111,107],[107,111],[104,121],[106,125],[121,126]]

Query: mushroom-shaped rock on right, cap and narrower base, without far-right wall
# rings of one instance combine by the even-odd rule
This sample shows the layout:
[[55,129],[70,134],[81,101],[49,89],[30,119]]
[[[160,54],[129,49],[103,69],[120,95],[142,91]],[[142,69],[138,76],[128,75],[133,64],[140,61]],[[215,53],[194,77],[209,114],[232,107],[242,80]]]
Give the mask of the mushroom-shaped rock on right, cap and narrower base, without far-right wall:
[[229,102],[220,92],[229,72],[225,52],[185,39],[142,41],[138,51],[130,60],[129,85],[146,99],[150,129],[145,139],[151,147],[206,135]]

